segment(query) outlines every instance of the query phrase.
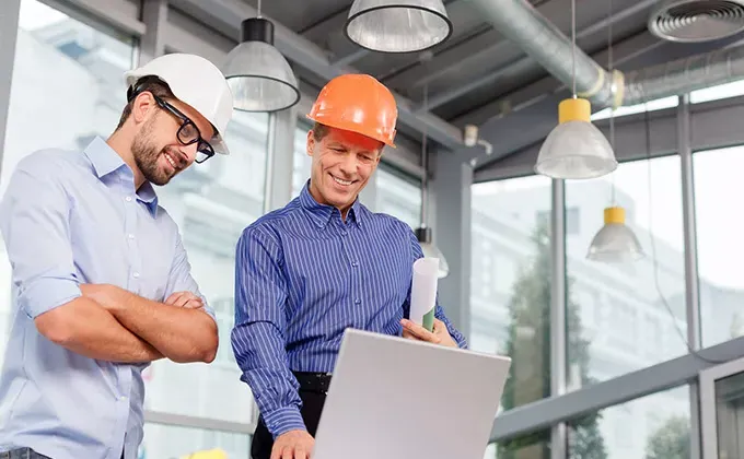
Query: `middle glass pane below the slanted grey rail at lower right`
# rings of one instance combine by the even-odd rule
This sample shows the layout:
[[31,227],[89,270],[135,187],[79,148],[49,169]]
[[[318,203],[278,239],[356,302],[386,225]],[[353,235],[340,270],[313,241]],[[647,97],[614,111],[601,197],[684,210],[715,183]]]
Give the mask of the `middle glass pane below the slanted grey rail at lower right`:
[[690,459],[689,388],[682,387],[606,408],[576,420],[569,458]]

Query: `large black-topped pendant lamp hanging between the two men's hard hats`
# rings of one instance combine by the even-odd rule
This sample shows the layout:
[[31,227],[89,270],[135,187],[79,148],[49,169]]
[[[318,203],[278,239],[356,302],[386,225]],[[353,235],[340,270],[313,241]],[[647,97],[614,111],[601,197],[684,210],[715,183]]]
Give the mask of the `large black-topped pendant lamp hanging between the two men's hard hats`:
[[223,67],[234,108],[277,111],[300,102],[294,72],[274,47],[274,24],[260,17],[243,21],[241,42],[230,51]]

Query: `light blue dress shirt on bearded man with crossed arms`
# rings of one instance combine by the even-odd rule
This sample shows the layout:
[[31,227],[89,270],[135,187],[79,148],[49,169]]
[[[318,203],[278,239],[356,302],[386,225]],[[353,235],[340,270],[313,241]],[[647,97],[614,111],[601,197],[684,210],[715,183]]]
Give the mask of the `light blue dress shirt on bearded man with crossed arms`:
[[119,459],[124,450],[137,458],[147,365],[75,354],[42,336],[34,318],[80,296],[81,283],[159,302],[179,291],[199,295],[175,222],[152,186],[136,191],[129,166],[95,138],[84,152],[23,158],[0,203],[0,229],[14,298],[0,375],[0,451]]

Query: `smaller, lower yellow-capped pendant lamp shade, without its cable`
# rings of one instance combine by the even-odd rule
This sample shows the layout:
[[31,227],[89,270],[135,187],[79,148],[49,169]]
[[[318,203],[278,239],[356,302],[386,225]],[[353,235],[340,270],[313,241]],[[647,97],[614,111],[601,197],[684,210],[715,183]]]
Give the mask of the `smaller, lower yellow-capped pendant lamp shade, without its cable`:
[[586,258],[604,262],[628,262],[643,258],[643,249],[633,232],[625,224],[625,209],[607,208],[605,224],[592,239]]

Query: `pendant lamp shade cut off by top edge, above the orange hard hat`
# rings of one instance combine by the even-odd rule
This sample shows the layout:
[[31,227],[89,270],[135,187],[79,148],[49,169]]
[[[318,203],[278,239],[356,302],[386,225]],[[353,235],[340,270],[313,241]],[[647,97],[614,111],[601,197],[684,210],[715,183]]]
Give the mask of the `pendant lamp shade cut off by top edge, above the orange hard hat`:
[[354,0],[344,32],[362,48],[412,52],[447,39],[452,22],[442,0]]

